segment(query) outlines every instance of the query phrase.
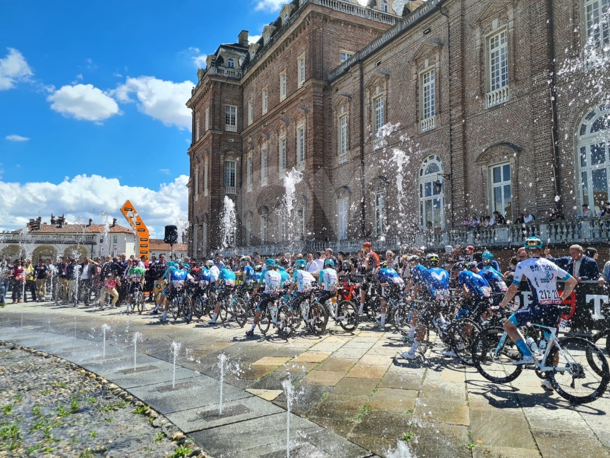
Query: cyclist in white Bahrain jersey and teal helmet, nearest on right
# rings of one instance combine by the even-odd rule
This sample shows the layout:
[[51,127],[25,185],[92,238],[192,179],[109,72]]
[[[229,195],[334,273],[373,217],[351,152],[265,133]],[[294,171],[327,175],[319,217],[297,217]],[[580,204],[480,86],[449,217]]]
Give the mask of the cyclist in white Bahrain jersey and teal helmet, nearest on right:
[[[504,330],[523,354],[522,359],[513,362],[514,365],[532,364],[534,362],[534,357],[529,351],[528,344],[519,331],[519,327],[532,321],[556,327],[561,316],[561,303],[570,296],[578,284],[576,278],[565,272],[561,267],[545,258],[540,258],[542,240],[537,237],[529,237],[523,242],[523,246],[527,250],[529,258],[517,264],[512,285],[509,286],[504,299],[500,302],[500,307],[506,307],[517,294],[523,277],[528,278],[532,290],[531,302],[528,307],[515,311],[511,318],[504,322]],[[565,288],[561,295],[557,291],[557,280],[565,282]],[[545,336],[547,336],[547,333],[545,333]],[[547,386],[546,383],[544,385]]]

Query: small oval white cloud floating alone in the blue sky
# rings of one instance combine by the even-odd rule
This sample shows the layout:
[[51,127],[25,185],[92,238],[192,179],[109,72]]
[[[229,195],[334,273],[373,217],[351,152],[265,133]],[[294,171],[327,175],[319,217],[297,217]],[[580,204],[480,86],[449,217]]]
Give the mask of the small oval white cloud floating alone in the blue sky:
[[100,121],[120,113],[117,102],[92,84],[62,86],[46,100],[54,111],[87,121]]

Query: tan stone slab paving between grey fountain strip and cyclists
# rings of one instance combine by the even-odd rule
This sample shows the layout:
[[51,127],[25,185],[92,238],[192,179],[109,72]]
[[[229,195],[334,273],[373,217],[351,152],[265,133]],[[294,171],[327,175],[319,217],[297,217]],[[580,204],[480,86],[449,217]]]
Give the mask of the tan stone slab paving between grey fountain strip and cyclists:
[[320,337],[299,330],[285,341],[271,333],[261,337],[258,330],[256,339],[247,339],[234,321],[209,325],[207,317],[187,325],[61,305],[0,310],[4,327],[18,328],[22,319],[24,333],[40,329],[99,345],[107,324],[107,338],[124,352],[132,351],[131,336],[138,331],[138,351],[170,362],[176,341],[178,364],[212,377],[219,377],[218,355],[224,354],[231,368],[227,383],[283,408],[282,381],[290,378],[297,391],[293,412],[382,457],[393,456],[399,446],[402,456],[408,449],[418,458],[610,457],[608,393],[572,406],[540,387],[534,371],[495,385],[442,357],[441,346],[429,351],[428,365],[407,362],[397,358],[400,335],[366,322],[354,333],[331,326]]

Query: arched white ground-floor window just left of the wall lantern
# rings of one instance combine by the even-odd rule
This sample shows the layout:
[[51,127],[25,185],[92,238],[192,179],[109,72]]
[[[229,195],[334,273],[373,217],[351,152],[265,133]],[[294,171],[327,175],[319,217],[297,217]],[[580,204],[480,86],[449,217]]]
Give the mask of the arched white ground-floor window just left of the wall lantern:
[[442,161],[434,154],[428,156],[420,167],[420,227],[426,230],[442,230],[445,225],[445,183],[441,173]]

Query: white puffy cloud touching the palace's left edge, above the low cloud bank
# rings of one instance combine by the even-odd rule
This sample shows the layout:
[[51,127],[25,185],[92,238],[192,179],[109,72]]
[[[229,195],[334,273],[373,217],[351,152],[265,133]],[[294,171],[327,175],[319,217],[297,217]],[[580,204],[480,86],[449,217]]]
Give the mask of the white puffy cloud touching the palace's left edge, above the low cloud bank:
[[173,82],[157,79],[154,76],[127,78],[124,84],[112,91],[117,100],[127,103],[135,93],[138,109],[166,126],[190,129],[192,114],[185,103],[191,96],[192,81]]

